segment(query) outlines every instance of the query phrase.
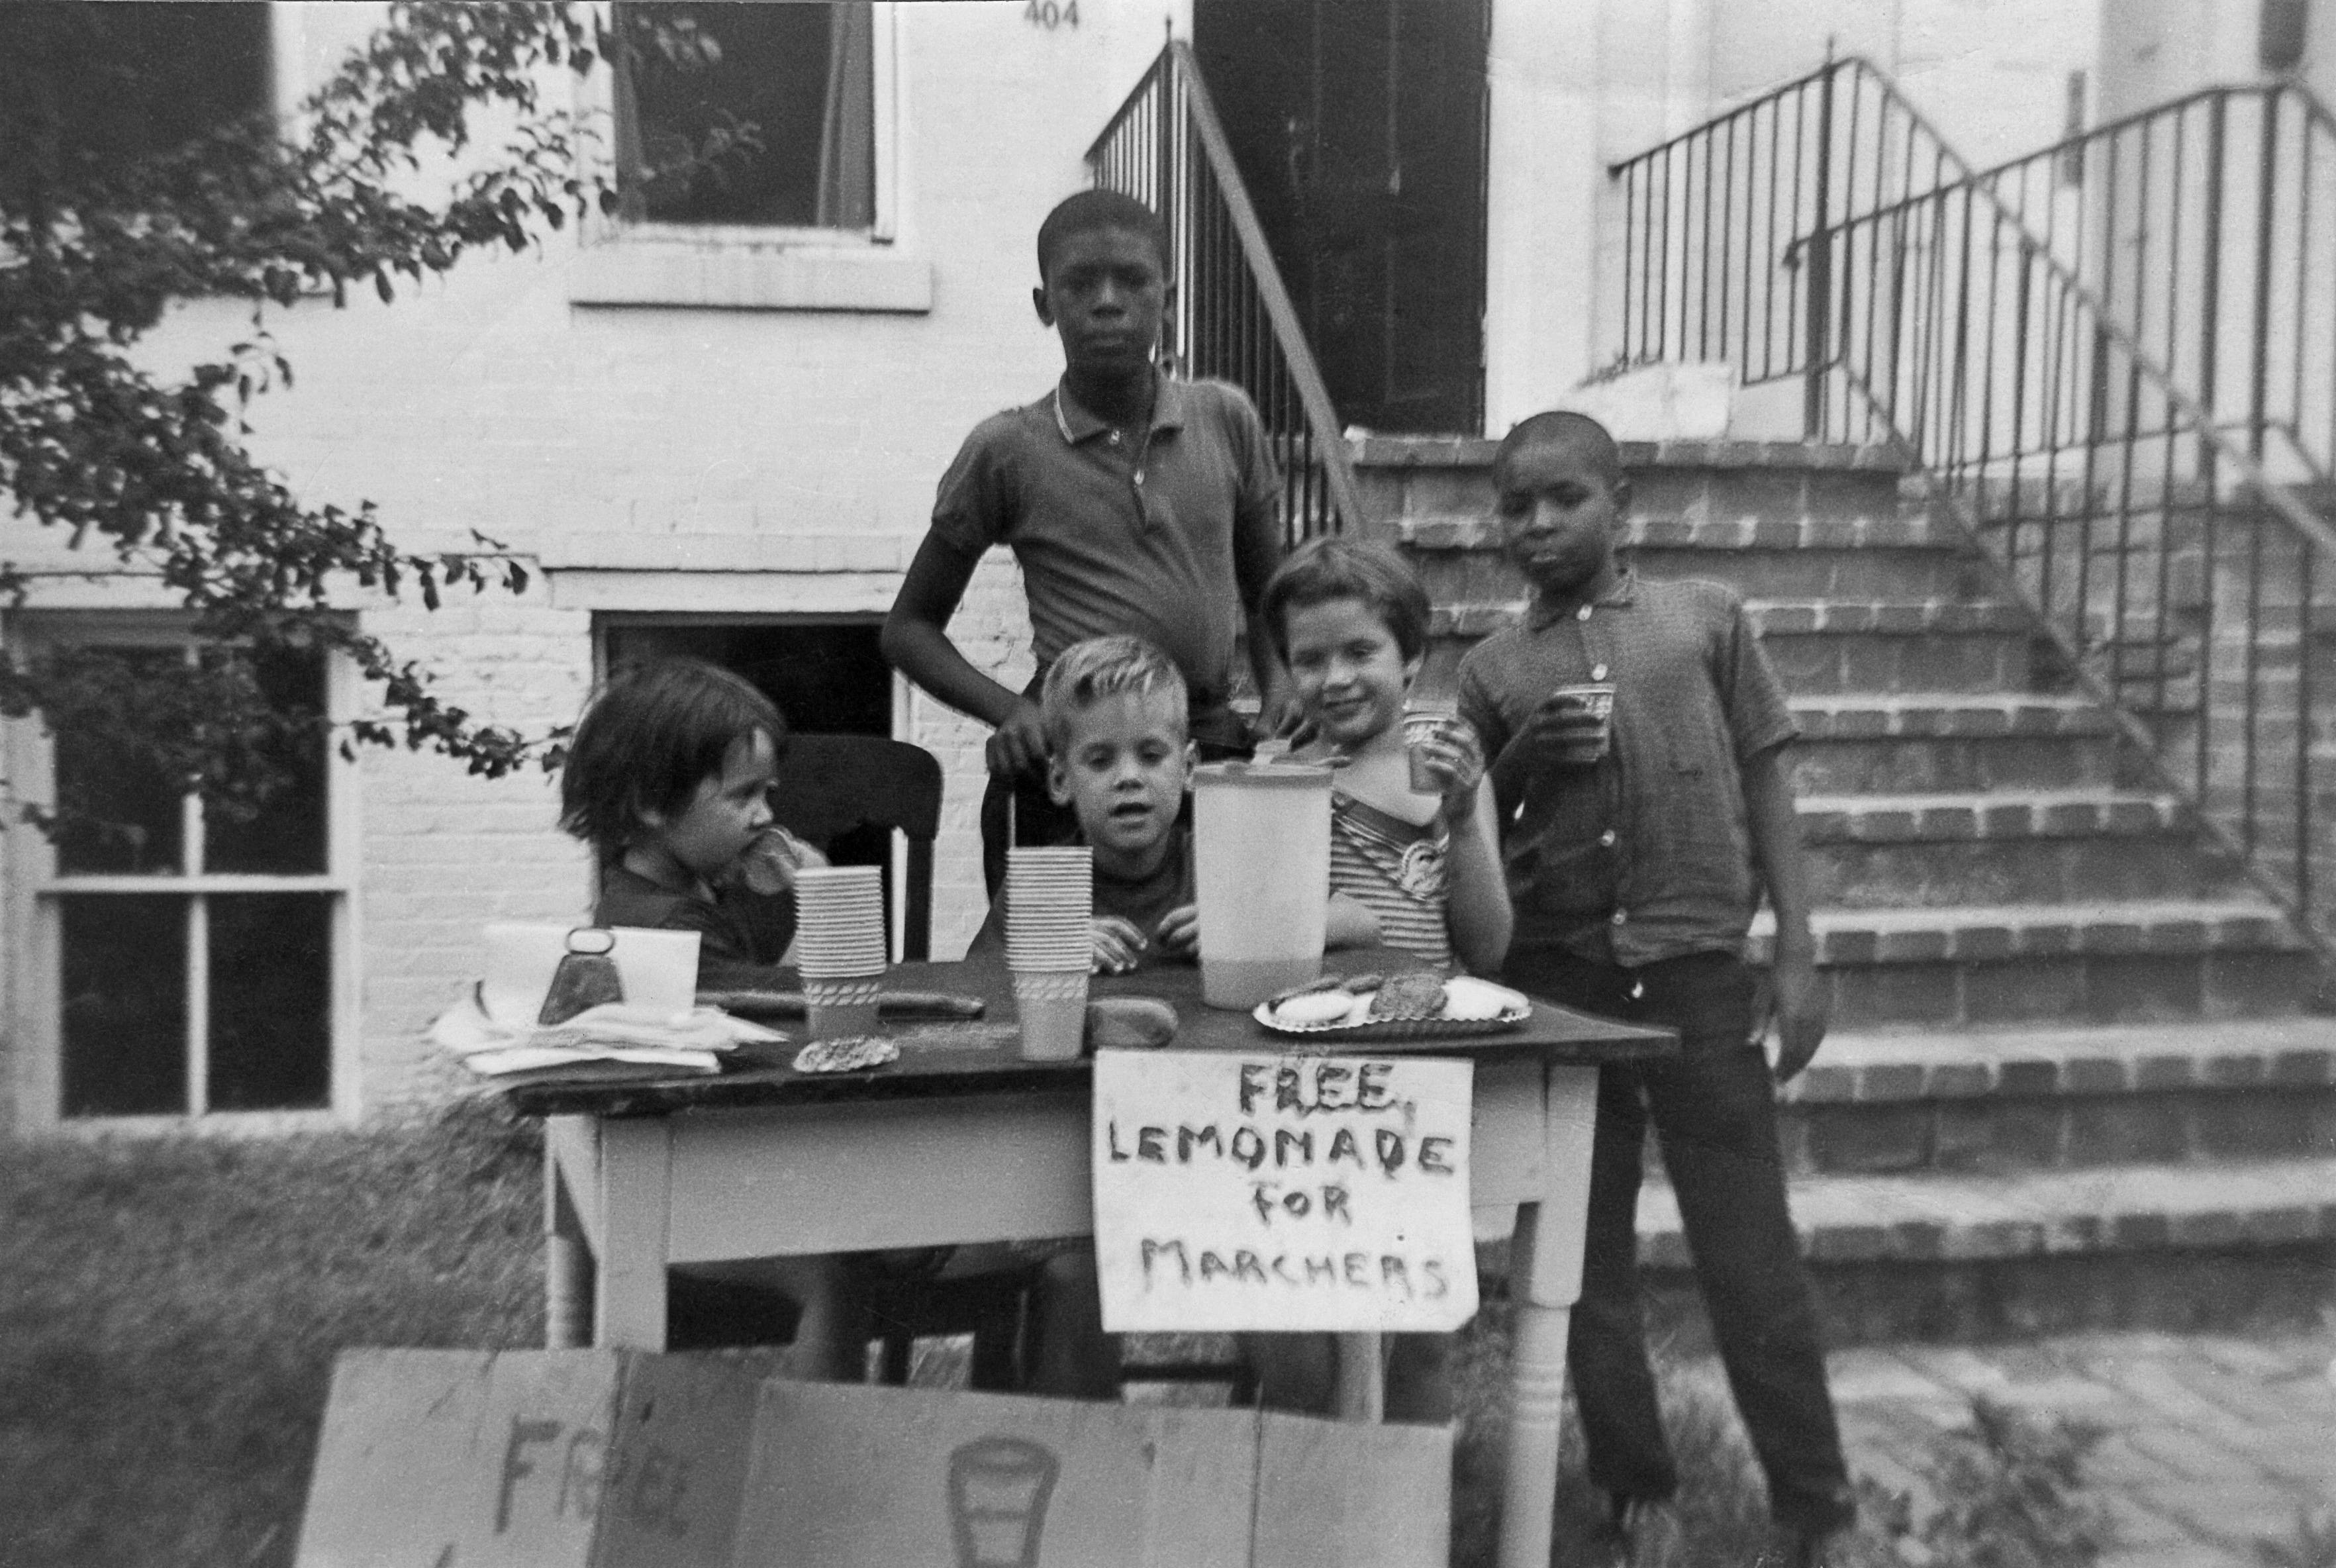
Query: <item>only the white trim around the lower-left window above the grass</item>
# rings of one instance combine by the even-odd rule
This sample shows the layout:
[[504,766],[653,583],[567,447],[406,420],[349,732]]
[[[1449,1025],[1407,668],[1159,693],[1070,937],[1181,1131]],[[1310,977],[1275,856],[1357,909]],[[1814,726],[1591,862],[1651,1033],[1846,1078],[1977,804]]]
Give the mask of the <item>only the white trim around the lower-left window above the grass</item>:
[[[28,610],[9,617],[7,643],[23,652],[37,652],[56,643],[107,643],[107,645],[187,645],[185,615],[121,615],[121,612],[56,612]],[[341,657],[325,659],[325,708],[339,724],[357,710],[357,673]],[[9,720],[0,724],[0,745],[7,757],[7,780],[14,799],[9,816],[26,802],[51,804],[54,741],[37,720]],[[360,790],[357,766],[327,750],[325,759],[325,874],[322,876],[119,876],[56,872],[56,851],[33,827],[12,820],[0,834],[0,921],[12,953],[5,965],[7,984],[7,1040],[14,1087],[14,1119],[28,1133],[138,1133],[189,1129],[220,1133],[276,1133],[355,1122],[362,1112],[362,1028],[360,1028],[360,970],[357,970],[357,865],[362,853],[362,825],[357,820]],[[189,802],[189,811],[192,811]],[[135,883],[135,886],[131,886]],[[65,1117],[58,1098],[63,1094],[63,1035],[58,1028],[58,897],[65,893],[329,893],[329,939],[332,939],[332,1002],[329,1002],[329,1077],[332,1101],[320,1110],[203,1110],[194,1115],[138,1115],[138,1117]],[[189,974],[187,1012],[199,1017],[201,974]],[[196,1024],[201,1040],[201,1024]],[[201,1068],[201,1049],[196,1049]],[[196,1080],[201,1082],[201,1080]]]

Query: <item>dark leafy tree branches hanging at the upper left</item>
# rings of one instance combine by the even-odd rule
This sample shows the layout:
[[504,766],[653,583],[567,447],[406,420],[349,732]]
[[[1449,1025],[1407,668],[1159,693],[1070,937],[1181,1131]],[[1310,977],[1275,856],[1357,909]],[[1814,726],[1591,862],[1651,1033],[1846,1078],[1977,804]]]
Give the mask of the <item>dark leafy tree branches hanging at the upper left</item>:
[[[395,299],[402,283],[444,273],[474,250],[526,250],[544,229],[617,210],[617,189],[579,159],[591,131],[551,100],[563,72],[593,70],[612,47],[593,12],[397,0],[388,26],[287,129],[257,117],[121,161],[75,145],[63,84],[75,72],[84,84],[91,70],[128,72],[119,61],[135,54],[124,44],[147,26],[147,7],[28,0],[5,9],[0,491],[77,549],[110,549],[121,568],[159,577],[201,638],[346,654],[376,689],[381,717],[355,722],[343,748],[404,741],[491,778],[530,759],[551,766],[547,738],[444,701],[430,671],[346,615],[350,589],[416,596],[434,610],[449,591],[523,591],[526,568],[486,537],[470,551],[413,554],[371,502],[301,500],[245,451],[243,416],[252,397],[292,381],[266,334],[271,304],[346,301],[350,287]],[[128,72],[105,89],[131,93],[138,82]],[[481,124],[514,129],[484,145]],[[712,154],[736,143],[724,138]],[[668,157],[687,164],[703,150]],[[416,178],[442,168],[458,173]],[[659,173],[628,171],[628,182]],[[133,348],[182,297],[248,299],[252,334],[168,383]],[[26,589],[28,577],[0,563],[0,598],[21,605]],[[145,748],[140,764],[189,788],[236,780],[250,799],[266,795],[259,752],[238,736],[283,720],[255,710],[248,680],[217,659],[128,678],[175,692],[107,708],[91,701],[86,659],[0,654],[0,713],[42,713],[51,727],[65,715],[105,722]],[[140,722],[171,708],[215,722],[182,734]]]

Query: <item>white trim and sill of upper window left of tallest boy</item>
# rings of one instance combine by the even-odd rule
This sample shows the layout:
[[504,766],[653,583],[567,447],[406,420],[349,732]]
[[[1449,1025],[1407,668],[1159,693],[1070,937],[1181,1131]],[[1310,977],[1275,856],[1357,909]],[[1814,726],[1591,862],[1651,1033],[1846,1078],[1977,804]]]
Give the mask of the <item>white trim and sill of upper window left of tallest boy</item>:
[[[607,7],[598,7],[603,21]],[[568,276],[577,306],[696,306],[729,311],[904,311],[932,308],[932,262],[899,248],[899,16],[874,0],[874,178],[876,217],[867,229],[762,224],[621,222],[591,215]],[[612,126],[614,79],[596,70],[577,84],[586,124]],[[586,143],[591,173],[614,178],[614,136]]]

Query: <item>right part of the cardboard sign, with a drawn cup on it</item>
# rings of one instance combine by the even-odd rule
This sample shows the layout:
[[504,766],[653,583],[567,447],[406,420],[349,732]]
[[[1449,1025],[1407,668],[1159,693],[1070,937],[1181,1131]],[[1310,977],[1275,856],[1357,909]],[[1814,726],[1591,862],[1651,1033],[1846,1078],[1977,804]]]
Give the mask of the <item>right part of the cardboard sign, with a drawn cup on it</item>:
[[1451,1428],[769,1381],[738,1568],[1441,1568]]

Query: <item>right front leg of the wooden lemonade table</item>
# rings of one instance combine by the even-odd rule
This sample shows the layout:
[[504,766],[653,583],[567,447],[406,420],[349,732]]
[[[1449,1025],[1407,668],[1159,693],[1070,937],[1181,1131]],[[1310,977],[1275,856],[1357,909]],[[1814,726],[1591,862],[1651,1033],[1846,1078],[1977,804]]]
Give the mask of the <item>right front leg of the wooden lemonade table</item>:
[[1549,1568],[1565,1409],[1565,1330],[1581,1297],[1581,1239],[1591,1206],[1591,1129],[1598,1068],[1549,1068],[1539,1203],[1516,1215],[1509,1253],[1509,1465],[1500,1512],[1500,1568]]

